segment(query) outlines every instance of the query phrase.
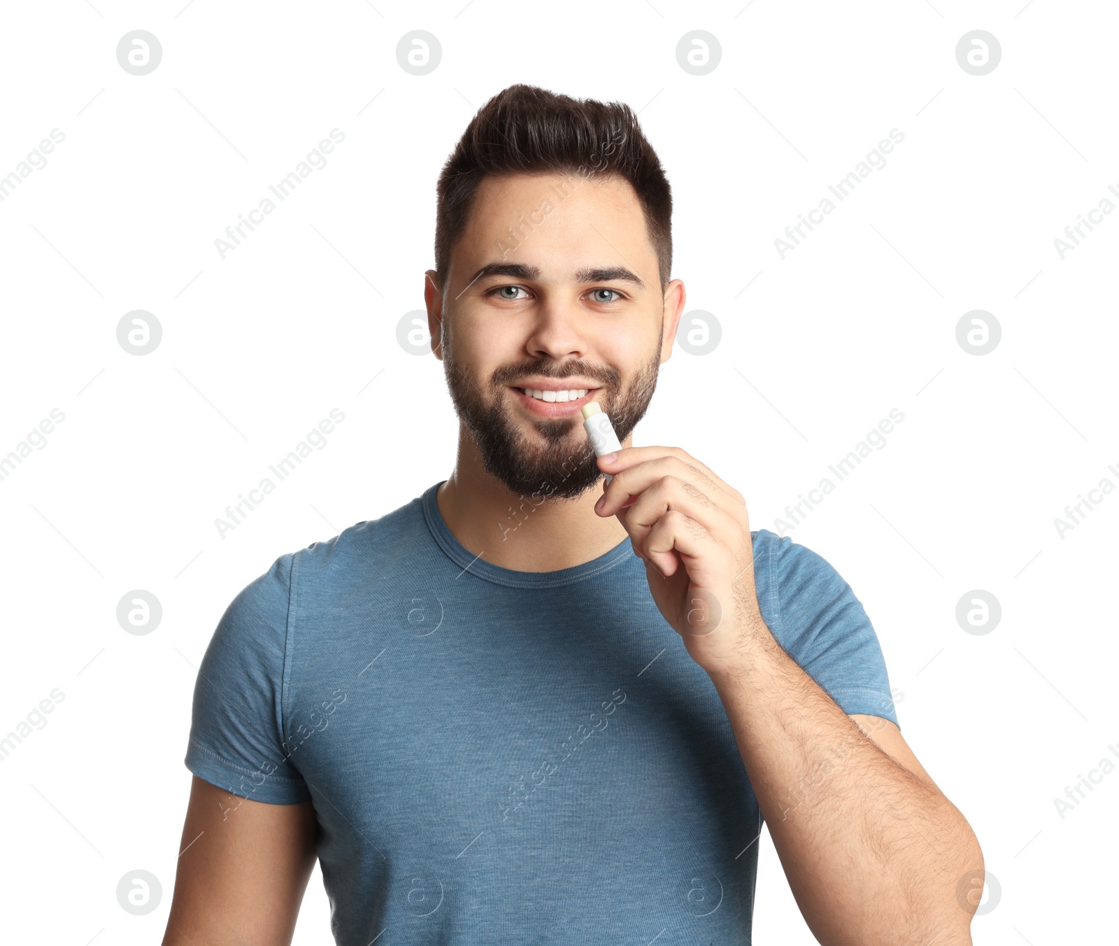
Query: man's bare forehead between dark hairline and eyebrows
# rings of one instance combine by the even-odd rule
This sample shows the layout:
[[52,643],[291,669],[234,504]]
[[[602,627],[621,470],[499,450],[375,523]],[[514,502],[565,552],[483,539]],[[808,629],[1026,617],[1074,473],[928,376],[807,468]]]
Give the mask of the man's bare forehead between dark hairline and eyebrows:
[[452,253],[461,277],[505,259],[528,261],[544,278],[570,279],[587,264],[653,274],[656,250],[632,185],[617,175],[489,175],[474,193]]

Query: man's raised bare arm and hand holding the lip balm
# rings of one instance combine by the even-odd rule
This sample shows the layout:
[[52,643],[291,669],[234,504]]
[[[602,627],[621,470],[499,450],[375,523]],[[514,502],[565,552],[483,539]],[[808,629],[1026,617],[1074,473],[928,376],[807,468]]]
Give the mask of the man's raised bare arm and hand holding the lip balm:
[[678,447],[623,447],[598,462],[611,481],[595,512],[626,526],[657,608],[718,691],[817,940],[969,946],[975,833],[896,727],[861,715],[863,731],[773,637],[742,494]]

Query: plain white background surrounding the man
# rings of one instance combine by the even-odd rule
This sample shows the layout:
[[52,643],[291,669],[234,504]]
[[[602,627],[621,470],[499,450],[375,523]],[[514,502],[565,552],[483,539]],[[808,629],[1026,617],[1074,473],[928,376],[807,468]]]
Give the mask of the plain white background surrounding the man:
[[[661,368],[637,443],[685,448],[777,531],[904,413],[789,534],[864,602],[903,732],[979,836],[1000,895],[976,943],[1113,935],[1119,772],[1054,805],[1119,747],[1119,495],[1054,526],[1119,484],[1119,214],[1054,246],[1119,187],[1113,6],[184,2],[2,10],[0,175],[65,134],[0,203],[0,455],[65,414],[0,481],[0,734],[65,694],[0,762],[6,929],[159,940],[218,617],[278,555],[449,474],[441,365],[396,325],[423,306],[442,162],[489,96],[528,82],[639,110],[673,186],[671,274],[723,328]],[[162,45],[144,76],[115,55],[134,29]],[[415,29],[442,46],[425,76],[397,63]],[[676,59],[696,29],[722,47],[705,76]],[[975,29],[1002,45],[984,76],[955,54]],[[220,259],[225,227],[333,128],[327,166]],[[894,128],[886,166],[781,259],[784,227]],[[142,357],[116,340],[133,309],[162,326]],[[1002,326],[988,355],[957,343],[972,309]],[[328,446],[220,537],[215,518],[332,408]],[[162,605],[145,636],[116,621],[133,589]],[[988,634],[956,620],[974,589],[1002,606]],[[142,917],[116,901],[134,869],[162,883]],[[814,942],[768,834],[754,930]],[[316,872],[295,942],[328,938]]]

